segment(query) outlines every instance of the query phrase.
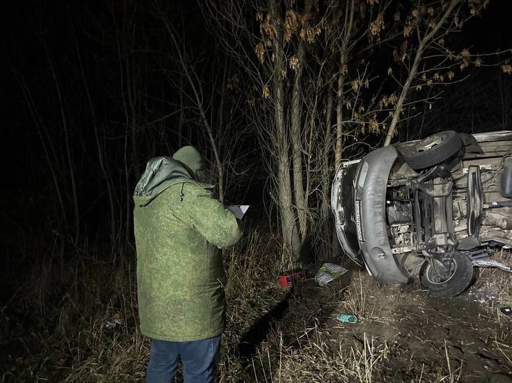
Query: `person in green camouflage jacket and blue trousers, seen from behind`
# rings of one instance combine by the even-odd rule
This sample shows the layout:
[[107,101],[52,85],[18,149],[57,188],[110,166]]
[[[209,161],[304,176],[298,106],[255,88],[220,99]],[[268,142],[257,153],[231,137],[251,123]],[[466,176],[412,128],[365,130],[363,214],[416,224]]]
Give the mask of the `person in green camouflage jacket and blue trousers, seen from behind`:
[[150,160],[135,186],[137,292],[142,334],[152,338],[146,382],[213,382],[224,329],[226,277],[218,249],[242,232],[233,212],[199,182],[194,147]]

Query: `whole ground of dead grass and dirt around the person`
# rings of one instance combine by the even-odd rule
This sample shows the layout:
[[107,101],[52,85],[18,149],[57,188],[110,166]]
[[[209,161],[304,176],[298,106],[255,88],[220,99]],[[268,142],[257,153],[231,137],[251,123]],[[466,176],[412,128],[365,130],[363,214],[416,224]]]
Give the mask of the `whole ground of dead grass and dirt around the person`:
[[[253,231],[224,253],[221,382],[510,381],[511,322],[499,312],[511,302],[510,275],[480,271],[472,290],[498,292],[484,304],[467,293],[429,298],[417,282],[386,286],[359,269],[288,291],[277,284],[289,262],[275,243]],[[149,342],[137,327],[135,259],[39,259],[2,310],[1,382],[143,382]],[[358,323],[334,319],[345,313]]]

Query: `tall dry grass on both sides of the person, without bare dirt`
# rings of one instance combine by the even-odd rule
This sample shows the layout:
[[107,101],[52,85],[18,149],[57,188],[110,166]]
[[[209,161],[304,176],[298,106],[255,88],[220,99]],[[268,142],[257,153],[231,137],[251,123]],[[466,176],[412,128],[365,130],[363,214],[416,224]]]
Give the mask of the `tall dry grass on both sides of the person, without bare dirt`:
[[[333,319],[350,312],[366,323],[393,321],[389,312],[374,310],[377,282],[355,271],[323,288],[296,286],[290,294],[277,276],[294,264],[276,243],[272,234],[255,230],[222,255],[228,307],[220,382],[382,382],[393,345],[366,332],[353,341],[340,338]],[[11,350],[1,382],[143,382],[150,343],[139,332],[135,254],[104,254],[109,251],[86,246],[74,255],[41,254],[27,271],[1,311],[0,330]],[[478,283],[496,284],[508,301],[511,279],[495,273],[485,271]],[[270,317],[251,355],[240,354],[247,334],[259,331],[255,323],[284,300],[289,309]],[[119,323],[112,325],[113,319]],[[502,353],[512,358],[504,339],[497,334]],[[412,366],[412,381],[460,382],[461,370],[450,367],[445,353],[448,364],[438,371]]]

